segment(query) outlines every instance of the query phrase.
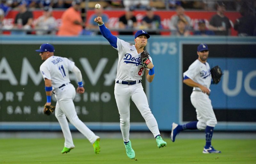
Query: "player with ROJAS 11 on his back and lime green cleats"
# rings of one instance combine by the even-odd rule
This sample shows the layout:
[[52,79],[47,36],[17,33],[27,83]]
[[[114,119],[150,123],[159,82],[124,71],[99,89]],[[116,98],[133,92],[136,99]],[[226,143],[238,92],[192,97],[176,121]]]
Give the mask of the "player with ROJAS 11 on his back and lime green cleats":
[[[94,152],[100,152],[100,137],[96,136],[84,123],[77,117],[73,99],[77,93],[84,93],[81,71],[75,66],[73,61],[60,56],[54,56],[54,47],[51,44],[42,44],[40,56],[44,61],[40,66],[40,72],[44,78],[47,102],[45,105],[51,105],[52,93],[57,99],[55,108],[55,117],[60,123],[65,143],[61,153],[68,153],[75,147],[68,121],[76,127],[93,145]],[[78,80],[78,87],[70,83],[68,71],[75,73]],[[66,118],[67,117],[67,118]]]

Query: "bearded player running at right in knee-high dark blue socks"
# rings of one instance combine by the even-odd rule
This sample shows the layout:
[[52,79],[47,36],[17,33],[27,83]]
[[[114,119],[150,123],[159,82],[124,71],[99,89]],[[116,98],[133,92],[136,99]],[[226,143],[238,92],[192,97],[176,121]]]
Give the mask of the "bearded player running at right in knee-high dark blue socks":
[[194,61],[186,72],[183,73],[183,82],[193,88],[190,96],[191,103],[196,108],[196,117],[198,121],[192,121],[184,125],[172,123],[172,142],[175,141],[176,135],[186,129],[190,130],[203,130],[205,129],[206,144],[203,153],[221,153],[215,150],[211,144],[212,133],[217,119],[212,109],[210,94],[210,84],[212,76],[209,64],[206,62],[209,49],[206,44],[200,44],[197,47],[198,59]]

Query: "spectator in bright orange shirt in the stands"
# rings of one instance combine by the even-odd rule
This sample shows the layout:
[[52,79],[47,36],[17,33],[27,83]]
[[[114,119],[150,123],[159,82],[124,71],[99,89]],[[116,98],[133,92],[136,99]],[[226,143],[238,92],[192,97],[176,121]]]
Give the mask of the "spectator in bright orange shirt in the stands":
[[80,4],[81,0],[74,0],[72,6],[62,14],[59,36],[77,36],[85,27],[81,18]]

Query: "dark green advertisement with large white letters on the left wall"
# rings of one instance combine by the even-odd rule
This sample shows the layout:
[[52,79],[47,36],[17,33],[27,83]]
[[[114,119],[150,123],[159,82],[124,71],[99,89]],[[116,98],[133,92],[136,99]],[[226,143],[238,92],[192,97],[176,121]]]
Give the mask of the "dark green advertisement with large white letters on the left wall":
[[[54,115],[46,117],[43,113],[46,98],[44,80],[39,71],[43,61],[35,52],[39,46],[22,43],[0,45],[1,122],[57,121]],[[74,61],[82,72],[85,93],[76,94],[74,99],[79,118],[86,122],[119,122],[114,97],[117,51],[108,45],[54,46],[55,55]],[[70,72],[69,77],[77,87],[75,74]],[[54,96],[52,101],[54,105]],[[131,111],[131,122],[143,121],[134,103],[131,103]]]

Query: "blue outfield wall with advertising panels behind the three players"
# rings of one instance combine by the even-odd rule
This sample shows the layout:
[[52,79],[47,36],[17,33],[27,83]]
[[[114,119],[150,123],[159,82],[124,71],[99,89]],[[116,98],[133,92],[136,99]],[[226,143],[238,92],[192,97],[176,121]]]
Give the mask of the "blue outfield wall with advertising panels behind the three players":
[[[134,43],[132,36],[120,36]],[[46,101],[39,72],[41,58],[35,49],[42,43],[55,46],[55,55],[68,57],[81,69],[85,93],[74,100],[79,118],[92,130],[119,130],[114,98],[117,51],[102,36],[0,36],[0,130],[60,130],[56,118],[43,114]],[[182,73],[196,60],[200,43],[210,48],[210,66],[219,65],[223,78],[211,86],[217,130],[256,130],[255,37],[160,37],[151,36],[146,47],[155,65],[152,83],[143,79],[152,113],[160,130],[172,122],[196,120],[190,103],[192,88],[182,83]],[[76,86],[76,77],[70,75]],[[53,99],[53,104],[55,100]],[[71,129],[75,129],[72,125]],[[131,130],[148,130],[131,103]]]

